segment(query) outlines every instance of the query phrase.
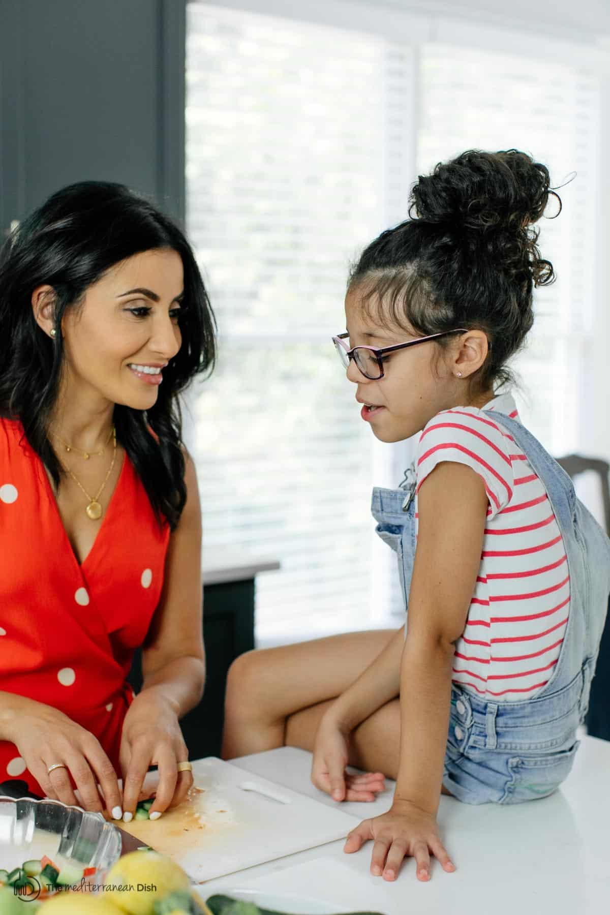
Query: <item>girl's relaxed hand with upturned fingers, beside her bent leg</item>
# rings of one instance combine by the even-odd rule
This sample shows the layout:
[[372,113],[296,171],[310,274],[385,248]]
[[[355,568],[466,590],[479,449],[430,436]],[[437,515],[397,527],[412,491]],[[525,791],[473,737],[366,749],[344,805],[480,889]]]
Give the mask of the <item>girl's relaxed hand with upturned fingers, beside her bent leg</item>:
[[383,772],[350,775],[348,755],[349,734],[332,716],[324,716],[316,731],[311,780],[334,801],[374,801],[385,789]]

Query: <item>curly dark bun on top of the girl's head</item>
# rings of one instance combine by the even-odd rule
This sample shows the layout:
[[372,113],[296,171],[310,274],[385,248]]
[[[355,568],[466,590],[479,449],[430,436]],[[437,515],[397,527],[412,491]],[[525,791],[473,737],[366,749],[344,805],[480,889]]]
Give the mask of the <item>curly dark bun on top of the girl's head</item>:
[[559,201],[561,212],[549,169],[527,153],[469,149],[419,177],[409,215],[460,233],[473,255],[487,254],[507,274],[525,271],[534,285],[547,285],[554,279],[552,264],[540,258],[539,232],[530,226],[550,196]]

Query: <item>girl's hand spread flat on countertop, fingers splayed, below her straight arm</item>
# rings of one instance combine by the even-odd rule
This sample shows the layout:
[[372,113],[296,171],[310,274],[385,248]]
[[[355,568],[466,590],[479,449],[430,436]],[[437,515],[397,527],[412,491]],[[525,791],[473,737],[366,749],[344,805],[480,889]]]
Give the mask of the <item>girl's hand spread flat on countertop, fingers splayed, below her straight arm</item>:
[[395,880],[402,859],[415,858],[418,880],[430,879],[430,852],[450,872],[455,865],[450,860],[438,834],[436,818],[412,802],[394,801],[388,813],[364,820],[348,833],[344,852],[357,852],[369,839],[374,840],[370,861],[373,877],[383,875]]

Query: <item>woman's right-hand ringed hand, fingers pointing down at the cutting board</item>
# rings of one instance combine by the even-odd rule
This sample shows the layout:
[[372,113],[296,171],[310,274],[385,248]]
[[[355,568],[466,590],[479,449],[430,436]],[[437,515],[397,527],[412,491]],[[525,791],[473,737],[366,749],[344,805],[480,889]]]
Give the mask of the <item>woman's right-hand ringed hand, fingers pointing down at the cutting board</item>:
[[155,802],[148,813],[151,820],[168,807],[176,807],[193,784],[191,772],[177,771],[178,762],[188,759],[188,750],[176,711],[155,687],[136,695],[127,710],[120,759],[126,823],[132,819],[137,802],[144,800],[142,786],[149,766],[156,766],[159,775]]

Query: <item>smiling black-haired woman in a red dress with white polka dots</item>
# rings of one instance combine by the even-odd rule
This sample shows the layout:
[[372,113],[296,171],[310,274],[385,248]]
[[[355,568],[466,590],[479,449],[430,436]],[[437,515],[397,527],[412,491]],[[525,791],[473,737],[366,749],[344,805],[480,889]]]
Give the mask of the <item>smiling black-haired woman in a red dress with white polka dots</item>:
[[192,784],[201,534],[177,394],[214,327],[183,233],[122,185],[63,188],[5,243],[0,780],[125,822],[150,766],[153,819]]

